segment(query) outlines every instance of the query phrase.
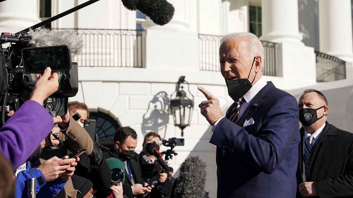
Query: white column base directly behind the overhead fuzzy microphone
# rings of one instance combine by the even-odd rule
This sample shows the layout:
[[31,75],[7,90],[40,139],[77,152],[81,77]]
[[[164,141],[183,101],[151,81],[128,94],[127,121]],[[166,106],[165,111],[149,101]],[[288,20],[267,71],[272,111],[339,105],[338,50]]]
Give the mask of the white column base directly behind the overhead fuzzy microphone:
[[189,24],[185,20],[185,0],[168,0],[169,3],[173,4],[175,12],[173,19],[166,25],[159,26],[153,23],[150,18],[146,17],[146,21],[142,23],[144,29],[169,29],[169,30],[181,30],[187,31]]

